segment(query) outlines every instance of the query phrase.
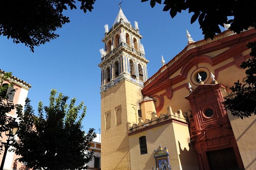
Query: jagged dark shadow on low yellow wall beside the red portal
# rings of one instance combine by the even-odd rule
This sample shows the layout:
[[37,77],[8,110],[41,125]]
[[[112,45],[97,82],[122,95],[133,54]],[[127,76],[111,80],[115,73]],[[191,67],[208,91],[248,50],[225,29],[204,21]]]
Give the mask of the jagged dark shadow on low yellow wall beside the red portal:
[[181,149],[181,143],[179,143],[179,159],[181,161],[182,170],[197,170],[196,155],[193,152],[192,146],[189,143],[189,148]]

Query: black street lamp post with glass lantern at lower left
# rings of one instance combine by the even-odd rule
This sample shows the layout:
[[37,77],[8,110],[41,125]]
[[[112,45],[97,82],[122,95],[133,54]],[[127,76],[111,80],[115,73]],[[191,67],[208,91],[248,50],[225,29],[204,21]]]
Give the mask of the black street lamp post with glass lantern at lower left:
[[0,170],[3,170],[3,165],[5,164],[5,157],[6,157],[6,154],[7,154],[7,151],[10,147],[10,137],[13,137],[17,130],[19,129],[19,125],[18,125],[18,122],[15,122],[15,119],[12,121],[12,122],[9,122],[6,127],[8,128],[7,131],[5,131],[5,135],[8,137],[6,143],[5,142],[2,142],[2,144],[5,145],[5,152],[3,154],[3,159],[2,159],[2,163],[1,163],[1,167],[0,167]]

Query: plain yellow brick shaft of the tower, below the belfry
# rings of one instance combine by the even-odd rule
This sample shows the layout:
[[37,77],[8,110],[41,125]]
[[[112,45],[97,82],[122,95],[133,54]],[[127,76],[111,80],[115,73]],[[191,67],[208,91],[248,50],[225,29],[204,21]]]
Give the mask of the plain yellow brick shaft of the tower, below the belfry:
[[[142,87],[128,80],[121,80],[101,92],[101,169],[129,170],[130,154],[127,122],[134,122],[135,113],[142,99]],[[115,108],[122,108],[122,123],[116,125]],[[105,129],[105,113],[111,112],[111,127]],[[137,114],[138,115],[138,114]]]

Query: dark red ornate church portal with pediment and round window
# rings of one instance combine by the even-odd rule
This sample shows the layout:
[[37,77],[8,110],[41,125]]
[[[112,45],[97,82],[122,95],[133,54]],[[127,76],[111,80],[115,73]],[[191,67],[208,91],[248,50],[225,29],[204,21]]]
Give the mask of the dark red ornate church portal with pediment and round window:
[[219,167],[244,169],[235,136],[222,104],[225,87],[218,84],[199,85],[186,97],[192,117],[191,144],[200,170]]

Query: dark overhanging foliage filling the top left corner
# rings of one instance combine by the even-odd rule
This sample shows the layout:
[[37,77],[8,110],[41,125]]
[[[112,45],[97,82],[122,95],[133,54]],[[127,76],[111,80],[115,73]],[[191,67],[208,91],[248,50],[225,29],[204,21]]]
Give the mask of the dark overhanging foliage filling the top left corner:
[[1,0],[0,36],[13,39],[14,43],[24,43],[31,51],[52,39],[59,37],[54,31],[70,22],[62,14],[67,6],[86,13],[93,9],[96,0]]

